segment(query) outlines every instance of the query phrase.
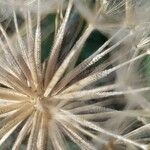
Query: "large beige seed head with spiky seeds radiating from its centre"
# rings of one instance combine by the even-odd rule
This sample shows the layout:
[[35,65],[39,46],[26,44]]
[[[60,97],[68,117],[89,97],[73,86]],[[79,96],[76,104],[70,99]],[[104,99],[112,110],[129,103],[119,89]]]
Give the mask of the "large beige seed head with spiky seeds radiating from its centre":
[[[102,29],[96,25],[97,17],[109,16],[129,4],[116,0],[92,2],[96,18],[87,22],[82,33],[73,33],[70,39],[74,23],[71,19],[80,10],[80,2],[67,1],[65,8],[57,8],[53,46],[48,59],[42,62],[42,1],[25,1],[25,36],[19,30],[16,15],[16,5],[20,3],[11,2],[16,41],[0,25],[0,145],[17,132],[11,145],[13,150],[22,148],[22,144],[27,150],[65,150],[68,139],[86,150],[116,147],[147,150],[147,142],[137,135],[145,131],[145,120],[141,120],[146,115],[145,108],[149,107],[140,93],[150,88],[132,86],[128,84],[130,80],[124,83],[132,79],[133,84],[139,85],[140,81],[129,76],[136,70],[137,61],[149,55],[148,35],[140,37],[135,24],[136,32],[129,26],[119,27],[102,46],[77,63],[89,36],[95,29]],[[34,26],[30,8],[35,3]],[[131,25],[131,9],[125,11]],[[69,44],[65,45],[64,39]],[[111,57],[115,52],[118,55]],[[122,77],[122,70],[126,78]],[[134,127],[134,123],[139,126]]]

